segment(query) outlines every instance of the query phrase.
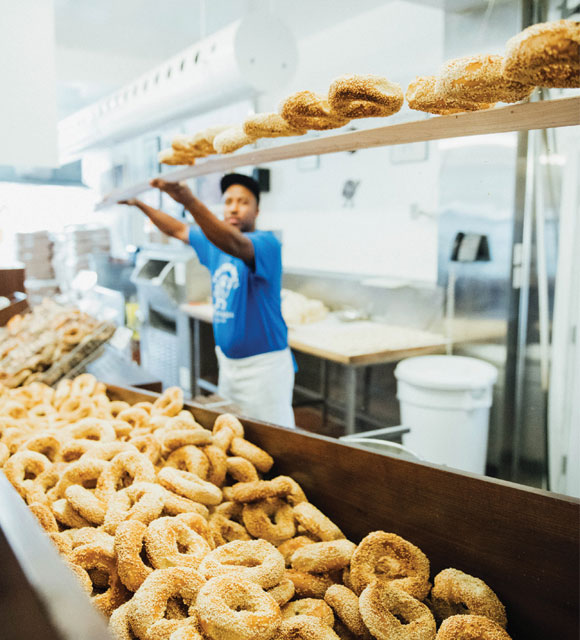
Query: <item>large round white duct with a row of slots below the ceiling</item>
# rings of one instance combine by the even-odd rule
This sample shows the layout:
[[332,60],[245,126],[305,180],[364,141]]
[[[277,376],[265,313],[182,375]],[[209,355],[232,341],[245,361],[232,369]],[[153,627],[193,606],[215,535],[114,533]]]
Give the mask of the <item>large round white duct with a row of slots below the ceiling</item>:
[[248,14],[129,85],[59,123],[61,162],[286,84],[298,64],[292,33],[272,15]]

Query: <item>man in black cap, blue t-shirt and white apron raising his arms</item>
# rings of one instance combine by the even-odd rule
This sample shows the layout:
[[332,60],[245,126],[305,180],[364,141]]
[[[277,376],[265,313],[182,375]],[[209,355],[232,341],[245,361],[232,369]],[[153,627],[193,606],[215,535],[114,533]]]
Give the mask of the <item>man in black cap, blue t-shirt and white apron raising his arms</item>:
[[293,427],[294,364],[281,312],[281,245],[271,232],[256,230],[258,183],[237,173],[222,178],[223,221],[183,184],[156,178],[151,186],[182,204],[199,225],[190,228],[139,200],[122,202],[190,244],[209,269],[220,395],[249,417]]

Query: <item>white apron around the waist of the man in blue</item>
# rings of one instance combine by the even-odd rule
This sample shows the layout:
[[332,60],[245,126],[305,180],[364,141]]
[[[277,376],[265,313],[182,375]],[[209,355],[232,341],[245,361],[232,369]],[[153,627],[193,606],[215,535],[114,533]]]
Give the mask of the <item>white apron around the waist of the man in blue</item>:
[[289,348],[248,358],[228,358],[216,347],[219,394],[249,418],[295,427],[292,411],[294,362]]

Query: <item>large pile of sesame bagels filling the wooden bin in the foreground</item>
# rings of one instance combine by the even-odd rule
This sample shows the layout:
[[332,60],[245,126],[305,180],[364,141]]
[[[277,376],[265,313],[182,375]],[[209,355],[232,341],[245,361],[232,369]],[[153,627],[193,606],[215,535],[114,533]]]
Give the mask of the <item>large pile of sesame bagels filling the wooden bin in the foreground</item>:
[[0,385],[0,472],[117,640],[510,640],[481,579],[390,531],[358,544],[177,387],[110,399],[90,374]]

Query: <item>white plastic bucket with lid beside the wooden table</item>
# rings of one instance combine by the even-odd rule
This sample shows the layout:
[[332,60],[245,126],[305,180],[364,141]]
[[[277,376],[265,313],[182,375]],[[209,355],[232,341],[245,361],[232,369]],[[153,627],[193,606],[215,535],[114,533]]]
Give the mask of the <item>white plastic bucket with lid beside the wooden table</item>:
[[497,369],[476,358],[420,356],[395,369],[403,444],[429,462],[485,473]]

